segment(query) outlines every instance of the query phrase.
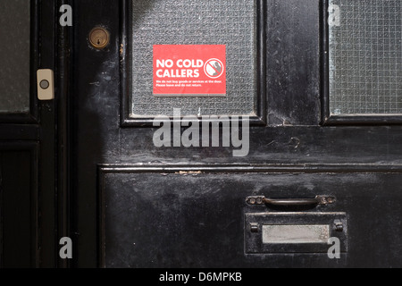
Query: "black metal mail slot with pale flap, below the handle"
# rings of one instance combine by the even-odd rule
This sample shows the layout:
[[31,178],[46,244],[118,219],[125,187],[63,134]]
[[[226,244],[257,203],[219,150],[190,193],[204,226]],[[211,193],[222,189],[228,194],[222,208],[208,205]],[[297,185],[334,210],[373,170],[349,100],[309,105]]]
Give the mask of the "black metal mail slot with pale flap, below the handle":
[[333,238],[348,251],[345,213],[246,214],[245,222],[247,254],[327,253]]

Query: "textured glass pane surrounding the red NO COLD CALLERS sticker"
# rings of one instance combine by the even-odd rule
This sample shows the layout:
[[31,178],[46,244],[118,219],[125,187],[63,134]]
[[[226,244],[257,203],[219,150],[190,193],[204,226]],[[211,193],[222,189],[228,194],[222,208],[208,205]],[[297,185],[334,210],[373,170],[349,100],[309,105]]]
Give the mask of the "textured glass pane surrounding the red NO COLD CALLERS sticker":
[[[132,18],[131,116],[255,113],[255,0],[133,1]],[[225,45],[226,97],[155,97],[154,45]]]

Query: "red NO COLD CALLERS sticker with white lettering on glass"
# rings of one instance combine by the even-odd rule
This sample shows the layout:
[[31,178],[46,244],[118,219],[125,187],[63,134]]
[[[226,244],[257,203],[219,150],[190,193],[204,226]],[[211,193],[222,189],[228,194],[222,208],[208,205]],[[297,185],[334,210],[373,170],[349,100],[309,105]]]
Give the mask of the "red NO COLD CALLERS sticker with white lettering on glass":
[[155,97],[225,97],[226,46],[155,45]]

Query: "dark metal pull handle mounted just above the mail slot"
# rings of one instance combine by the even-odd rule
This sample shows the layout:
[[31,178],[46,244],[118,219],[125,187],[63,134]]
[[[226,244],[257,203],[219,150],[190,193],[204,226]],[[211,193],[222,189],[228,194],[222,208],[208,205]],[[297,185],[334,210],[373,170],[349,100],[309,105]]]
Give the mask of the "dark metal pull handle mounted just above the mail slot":
[[271,206],[319,206],[331,205],[336,198],[330,196],[316,196],[315,198],[265,198],[264,196],[248,197],[248,205],[271,205]]

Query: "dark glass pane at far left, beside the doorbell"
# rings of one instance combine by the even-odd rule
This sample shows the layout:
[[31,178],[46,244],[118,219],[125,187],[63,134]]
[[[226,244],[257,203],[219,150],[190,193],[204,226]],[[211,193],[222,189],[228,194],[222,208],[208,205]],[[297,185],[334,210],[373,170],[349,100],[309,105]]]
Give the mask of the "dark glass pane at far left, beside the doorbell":
[[0,113],[29,111],[29,0],[0,1]]

